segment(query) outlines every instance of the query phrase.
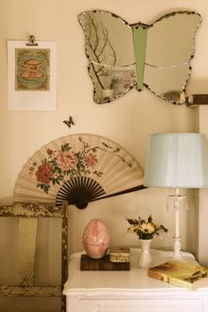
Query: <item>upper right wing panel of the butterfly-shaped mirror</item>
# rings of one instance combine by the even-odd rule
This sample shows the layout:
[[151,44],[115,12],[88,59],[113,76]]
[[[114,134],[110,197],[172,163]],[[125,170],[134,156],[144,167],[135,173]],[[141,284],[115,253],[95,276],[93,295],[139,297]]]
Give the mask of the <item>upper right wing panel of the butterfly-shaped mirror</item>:
[[148,28],[145,63],[158,67],[188,63],[200,21],[200,15],[192,11],[173,12],[156,20]]

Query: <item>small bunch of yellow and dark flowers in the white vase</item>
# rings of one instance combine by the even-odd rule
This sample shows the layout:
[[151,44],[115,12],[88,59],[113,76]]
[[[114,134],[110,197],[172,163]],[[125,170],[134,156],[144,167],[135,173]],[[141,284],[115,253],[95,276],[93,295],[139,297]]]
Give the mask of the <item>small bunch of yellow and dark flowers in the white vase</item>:
[[128,217],[127,221],[130,224],[130,227],[128,227],[128,232],[136,233],[140,240],[152,240],[153,237],[159,236],[164,232],[168,232],[164,225],[155,224],[152,221],[151,215],[149,215],[147,221],[141,217]]

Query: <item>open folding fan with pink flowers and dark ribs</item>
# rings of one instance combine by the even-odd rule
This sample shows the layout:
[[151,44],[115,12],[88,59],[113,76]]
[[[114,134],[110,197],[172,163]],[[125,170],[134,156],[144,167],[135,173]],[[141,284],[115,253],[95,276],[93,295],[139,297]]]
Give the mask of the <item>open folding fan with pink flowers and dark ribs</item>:
[[20,172],[15,202],[85,208],[87,202],[145,188],[137,162],[115,142],[72,134],[36,151]]

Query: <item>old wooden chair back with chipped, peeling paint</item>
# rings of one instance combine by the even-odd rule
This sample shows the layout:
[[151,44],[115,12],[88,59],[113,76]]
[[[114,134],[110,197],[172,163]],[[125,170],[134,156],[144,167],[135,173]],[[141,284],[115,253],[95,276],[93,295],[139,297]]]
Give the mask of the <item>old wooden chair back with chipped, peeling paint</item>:
[[[19,286],[0,285],[0,296],[56,296],[62,298],[60,311],[65,312],[63,284],[68,278],[68,202],[63,207],[37,203],[16,202],[0,206],[0,217],[19,219]],[[57,286],[33,285],[35,242],[39,217],[62,218],[62,284]]]

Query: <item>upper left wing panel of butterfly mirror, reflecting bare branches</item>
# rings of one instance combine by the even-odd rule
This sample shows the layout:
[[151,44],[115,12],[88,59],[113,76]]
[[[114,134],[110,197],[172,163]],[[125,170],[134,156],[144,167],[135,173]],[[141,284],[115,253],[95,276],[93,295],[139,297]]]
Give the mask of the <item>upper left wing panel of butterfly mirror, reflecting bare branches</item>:
[[105,66],[135,63],[132,30],[108,11],[86,11],[78,16],[85,32],[85,51],[92,62]]

